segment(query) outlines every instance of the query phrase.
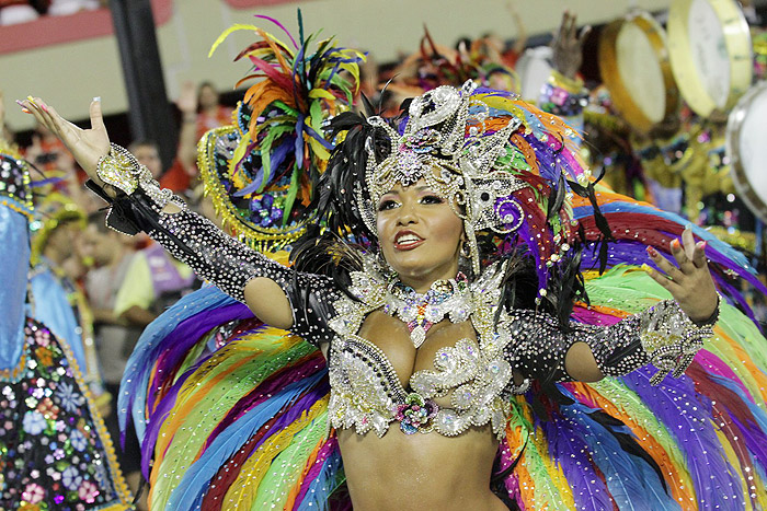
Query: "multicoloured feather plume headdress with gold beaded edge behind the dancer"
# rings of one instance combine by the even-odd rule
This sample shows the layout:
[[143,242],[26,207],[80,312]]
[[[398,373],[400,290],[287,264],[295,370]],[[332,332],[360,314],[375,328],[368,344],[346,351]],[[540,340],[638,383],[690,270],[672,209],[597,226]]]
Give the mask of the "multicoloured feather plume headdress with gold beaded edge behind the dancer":
[[319,33],[304,36],[298,11],[298,40],[283,43],[255,25],[238,24],[214,43],[210,55],[234,32],[252,31],[259,39],[236,57],[252,65],[236,86],[251,84],[236,112],[234,126],[206,133],[199,142],[199,167],[217,212],[243,241],[262,251],[281,249],[302,232],[300,212],[312,198],[332,141],[323,123],[347,111],[359,89],[365,55],[342,48]]

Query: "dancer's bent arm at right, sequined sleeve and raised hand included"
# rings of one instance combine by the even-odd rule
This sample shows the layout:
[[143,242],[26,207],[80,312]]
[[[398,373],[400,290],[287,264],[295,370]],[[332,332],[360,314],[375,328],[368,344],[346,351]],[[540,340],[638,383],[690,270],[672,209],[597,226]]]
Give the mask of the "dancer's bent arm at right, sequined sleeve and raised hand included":
[[674,266],[652,247],[651,258],[664,272],[645,268],[666,288],[673,300],[629,316],[615,325],[594,326],[572,322],[563,332],[557,321],[533,311],[513,311],[510,355],[517,371],[545,383],[593,382],[619,376],[653,363],[659,373],[652,383],[673,372],[679,376],[689,365],[719,316],[719,297],[708,270],[702,243],[695,244],[689,230],[684,245],[672,242]]

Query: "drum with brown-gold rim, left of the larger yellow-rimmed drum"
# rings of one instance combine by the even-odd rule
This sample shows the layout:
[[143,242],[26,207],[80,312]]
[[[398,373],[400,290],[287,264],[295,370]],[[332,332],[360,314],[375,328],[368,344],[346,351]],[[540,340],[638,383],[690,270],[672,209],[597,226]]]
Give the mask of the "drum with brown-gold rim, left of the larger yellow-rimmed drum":
[[663,27],[648,13],[632,12],[607,25],[599,37],[599,71],[615,109],[648,132],[676,115],[674,83]]

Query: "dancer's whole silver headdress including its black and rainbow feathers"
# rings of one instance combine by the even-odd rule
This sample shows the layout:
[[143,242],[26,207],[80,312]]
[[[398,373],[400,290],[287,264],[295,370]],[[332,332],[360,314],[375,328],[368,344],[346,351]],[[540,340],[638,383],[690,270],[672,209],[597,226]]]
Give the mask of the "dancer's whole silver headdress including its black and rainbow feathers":
[[[329,236],[375,246],[381,196],[423,179],[463,220],[470,278],[483,263],[517,251],[535,264],[539,299],[574,275],[565,271],[577,266],[572,196],[593,196],[593,188],[574,152],[575,133],[561,119],[473,82],[428,91],[396,119],[367,106],[368,117],[346,112],[327,125],[340,142],[312,218]],[[300,248],[316,245],[306,237]]]

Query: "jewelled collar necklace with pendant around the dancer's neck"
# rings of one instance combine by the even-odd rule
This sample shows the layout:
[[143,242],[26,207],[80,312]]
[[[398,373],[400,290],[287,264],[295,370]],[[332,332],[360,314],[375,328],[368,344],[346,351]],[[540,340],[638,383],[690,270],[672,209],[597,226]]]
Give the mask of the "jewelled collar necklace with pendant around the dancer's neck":
[[446,316],[453,323],[469,318],[473,311],[469,279],[459,272],[455,279],[437,280],[428,291],[419,293],[394,278],[387,288],[384,311],[408,325],[410,339],[417,349],[432,325]]

